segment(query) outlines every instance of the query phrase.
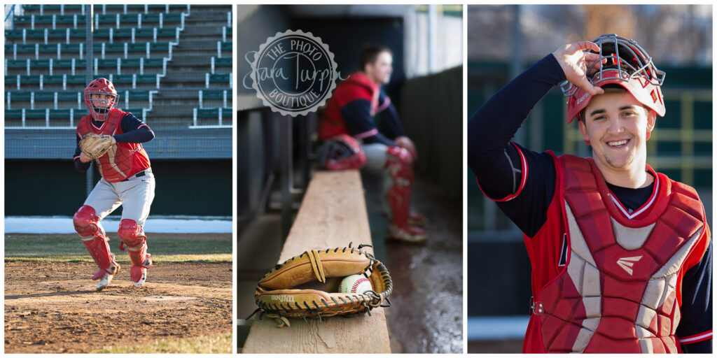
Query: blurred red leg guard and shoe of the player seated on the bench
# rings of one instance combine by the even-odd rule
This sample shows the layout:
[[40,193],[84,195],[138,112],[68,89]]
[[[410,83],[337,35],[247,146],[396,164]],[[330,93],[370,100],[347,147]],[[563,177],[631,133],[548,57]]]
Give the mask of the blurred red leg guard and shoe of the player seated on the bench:
[[386,151],[386,168],[391,186],[386,190],[386,202],[391,210],[389,238],[421,242],[426,236],[420,228],[409,225],[411,190],[413,187],[413,156],[402,147],[389,147]]

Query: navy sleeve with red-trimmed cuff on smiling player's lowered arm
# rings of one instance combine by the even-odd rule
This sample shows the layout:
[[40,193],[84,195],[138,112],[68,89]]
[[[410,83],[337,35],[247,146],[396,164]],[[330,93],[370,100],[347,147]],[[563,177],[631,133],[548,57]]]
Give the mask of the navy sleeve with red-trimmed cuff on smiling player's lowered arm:
[[682,280],[682,318],[675,334],[685,353],[712,352],[712,243],[708,229],[702,246],[698,244],[685,263],[699,260],[685,272]]

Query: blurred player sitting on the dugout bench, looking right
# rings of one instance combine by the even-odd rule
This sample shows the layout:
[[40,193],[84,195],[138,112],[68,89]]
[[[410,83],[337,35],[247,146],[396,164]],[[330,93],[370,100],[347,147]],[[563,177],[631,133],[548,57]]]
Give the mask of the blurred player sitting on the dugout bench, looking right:
[[[426,240],[424,231],[417,227],[424,219],[410,212],[417,151],[404,134],[391,99],[381,90],[381,84],[391,79],[392,61],[386,47],[364,47],[361,71],[338,84],[323,110],[318,134],[323,141],[348,134],[360,142],[366,157],[363,168],[384,173],[384,197],[391,213],[386,237],[419,243]],[[374,122],[378,113],[386,122],[385,133],[379,132]]]

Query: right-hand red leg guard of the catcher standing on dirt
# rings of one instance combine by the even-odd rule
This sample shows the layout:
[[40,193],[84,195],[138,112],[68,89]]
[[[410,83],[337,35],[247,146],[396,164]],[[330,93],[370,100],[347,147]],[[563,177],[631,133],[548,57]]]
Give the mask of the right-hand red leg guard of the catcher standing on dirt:
[[120,221],[117,234],[122,241],[120,250],[123,250],[124,245],[132,261],[130,277],[135,286],[142,286],[147,277],[147,269],[152,267],[151,255],[147,253],[147,236],[144,235],[142,226],[138,226],[137,222],[131,219]]

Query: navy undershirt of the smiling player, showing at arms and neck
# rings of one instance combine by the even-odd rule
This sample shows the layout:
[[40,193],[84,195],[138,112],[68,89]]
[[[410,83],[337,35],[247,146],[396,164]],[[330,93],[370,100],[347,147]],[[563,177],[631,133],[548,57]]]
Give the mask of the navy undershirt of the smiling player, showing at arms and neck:
[[[516,193],[521,182],[521,157],[510,144],[518,128],[533,107],[565,75],[552,54],[543,57],[525,72],[495,92],[490,100],[468,121],[468,166],[478,178],[480,188],[493,199]],[[547,221],[548,208],[553,200],[556,172],[548,153],[536,153],[518,145],[526,158],[528,178],[519,195],[499,202],[505,213],[528,238],[533,237]],[[622,188],[607,183],[608,188],[628,210],[634,211],[652,195],[654,183],[645,188]],[[688,337],[712,329],[712,248],[711,243],[702,261],[683,278],[682,320],[678,337]],[[712,340],[684,344],[689,353],[712,352]]]

